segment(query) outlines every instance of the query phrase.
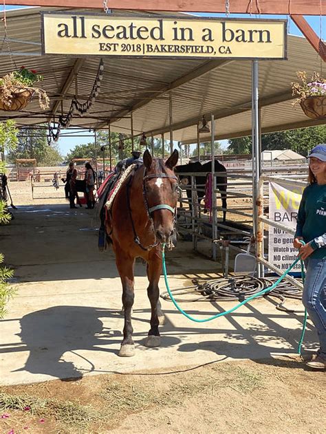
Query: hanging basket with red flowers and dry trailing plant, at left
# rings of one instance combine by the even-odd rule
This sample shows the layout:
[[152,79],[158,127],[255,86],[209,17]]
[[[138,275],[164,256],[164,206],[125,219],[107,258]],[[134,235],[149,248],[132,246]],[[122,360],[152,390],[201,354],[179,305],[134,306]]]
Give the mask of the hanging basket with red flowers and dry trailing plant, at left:
[[45,90],[34,87],[34,83],[41,80],[43,80],[41,74],[25,66],[0,78],[0,109],[5,111],[24,109],[34,94],[39,96],[41,109],[47,109],[50,99]]

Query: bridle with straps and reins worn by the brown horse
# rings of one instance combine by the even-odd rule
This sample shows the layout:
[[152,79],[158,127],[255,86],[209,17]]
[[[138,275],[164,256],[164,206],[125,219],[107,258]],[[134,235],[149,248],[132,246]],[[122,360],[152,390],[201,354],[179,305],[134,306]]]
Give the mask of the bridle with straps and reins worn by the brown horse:
[[142,246],[142,243],[140,242],[140,238],[138,237],[137,232],[135,231],[135,224],[133,223],[133,216],[131,213],[130,188],[131,188],[131,183],[133,181],[133,174],[129,178],[129,181],[127,184],[127,204],[128,204],[128,210],[129,210],[129,217],[131,220],[131,226],[133,228],[133,241],[135,241],[135,243],[142,250],[146,250],[146,251],[151,250],[153,247],[155,247],[155,246],[157,246],[157,244],[159,244],[159,241],[156,240],[154,221],[153,221],[153,217],[151,216],[151,214],[154,211],[164,210],[164,209],[171,211],[171,213],[173,214],[173,225],[175,224],[175,208],[172,208],[172,206],[170,206],[168,204],[157,204],[155,206],[151,206],[151,208],[149,207],[149,201],[147,199],[147,194],[146,194],[146,181],[151,180],[153,178],[170,178],[171,180],[177,180],[178,181],[176,176],[167,175],[166,173],[155,173],[153,175],[146,175],[146,167],[144,168],[144,176],[142,178],[142,195],[144,197],[144,203],[145,203],[147,216],[149,217],[149,220],[151,221],[151,229],[153,230],[153,233],[154,233],[154,243],[151,244],[150,246],[147,246],[147,247]]

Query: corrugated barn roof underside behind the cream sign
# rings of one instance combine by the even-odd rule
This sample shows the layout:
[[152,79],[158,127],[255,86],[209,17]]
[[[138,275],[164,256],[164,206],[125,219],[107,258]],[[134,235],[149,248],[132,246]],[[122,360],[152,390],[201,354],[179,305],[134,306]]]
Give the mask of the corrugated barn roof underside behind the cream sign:
[[[0,76],[21,65],[34,68],[44,76],[41,86],[50,96],[46,111],[41,111],[34,99],[23,111],[0,112],[0,120],[13,118],[18,127],[57,120],[61,109],[67,114],[75,94],[75,76],[78,99],[87,100],[98,71],[99,58],[95,56],[41,56],[41,10],[45,8],[15,10],[6,17],[12,54],[3,44]],[[137,14],[113,11],[117,15],[131,13]],[[0,38],[3,32],[2,26]],[[325,123],[309,119],[300,107],[293,107],[290,89],[296,71],[305,70],[309,75],[318,70],[318,55],[298,36],[288,36],[287,55],[287,61],[259,62],[263,133]],[[215,115],[218,140],[251,134],[252,61],[109,57],[103,61],[100,94],[85,116],[72,118],[72,127],[102,129],[111,124],[112,131],[130,134],[133,113],[135,135],[144,131],[154,136],[165,133],[168,138],[171,93],[173,140],[196,142],[197,123],[203,115],[209,119],[210,113]],[[210,134],[201,135],[202,142],[207,140]]]

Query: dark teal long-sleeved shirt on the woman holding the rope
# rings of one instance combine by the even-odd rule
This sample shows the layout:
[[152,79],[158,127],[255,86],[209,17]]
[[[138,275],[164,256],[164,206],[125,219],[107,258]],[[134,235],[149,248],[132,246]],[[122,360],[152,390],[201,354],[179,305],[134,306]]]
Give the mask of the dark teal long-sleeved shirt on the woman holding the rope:
[[326,246],[315,239],[326,237],[326,185],[311,184],[303,191],[296,222],[296,237],[305,243],[312,241],[312,258],[326,259]]

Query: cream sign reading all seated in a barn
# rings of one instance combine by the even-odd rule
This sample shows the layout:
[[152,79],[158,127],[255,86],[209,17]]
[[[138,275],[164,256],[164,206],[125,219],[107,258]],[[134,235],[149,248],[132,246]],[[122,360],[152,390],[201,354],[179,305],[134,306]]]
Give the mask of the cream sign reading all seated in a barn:
[[44,54],[286,58],[285,20],[42,15]]

